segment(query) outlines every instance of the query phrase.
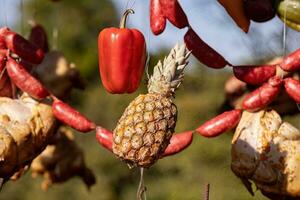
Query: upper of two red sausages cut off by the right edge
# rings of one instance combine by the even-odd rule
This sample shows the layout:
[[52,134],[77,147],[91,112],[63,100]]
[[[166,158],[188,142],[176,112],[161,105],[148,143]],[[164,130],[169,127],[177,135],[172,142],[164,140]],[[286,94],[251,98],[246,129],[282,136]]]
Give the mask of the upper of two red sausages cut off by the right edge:
[[280,63],[280,67],[284,71],[297,71],[300,70],[300,49],[297,49],[293,53],[289,54]]

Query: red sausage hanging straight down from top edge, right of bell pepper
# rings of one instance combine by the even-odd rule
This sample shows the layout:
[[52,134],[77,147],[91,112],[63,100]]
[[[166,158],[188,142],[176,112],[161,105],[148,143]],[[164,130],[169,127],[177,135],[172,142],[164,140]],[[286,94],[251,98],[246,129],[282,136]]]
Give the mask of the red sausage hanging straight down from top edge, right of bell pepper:
[[150,1],[150,26],[154,35],[161,34],[166,28],[166,17],[159,0]]

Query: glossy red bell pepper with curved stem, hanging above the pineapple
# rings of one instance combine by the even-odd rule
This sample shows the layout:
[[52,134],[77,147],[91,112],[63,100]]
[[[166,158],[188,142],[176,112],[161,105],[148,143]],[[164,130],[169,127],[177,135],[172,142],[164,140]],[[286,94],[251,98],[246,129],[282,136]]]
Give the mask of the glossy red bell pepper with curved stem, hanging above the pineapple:
[[98,37],[100,76],[112,94],[136,91],[145,69],[145,38],[139,30],[125,28],[129,13],[134,11],[124,13],[120,28],[106,28]]

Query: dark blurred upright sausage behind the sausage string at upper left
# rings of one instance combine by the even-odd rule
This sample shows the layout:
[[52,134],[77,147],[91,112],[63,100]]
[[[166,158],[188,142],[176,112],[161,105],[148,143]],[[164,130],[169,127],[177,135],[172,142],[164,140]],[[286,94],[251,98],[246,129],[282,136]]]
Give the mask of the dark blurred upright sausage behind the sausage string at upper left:
[[41,25],[33,25],[29,35],[29,41],[37,48],[42,49],[44,52],[49,51],[47,34],[45,29]]

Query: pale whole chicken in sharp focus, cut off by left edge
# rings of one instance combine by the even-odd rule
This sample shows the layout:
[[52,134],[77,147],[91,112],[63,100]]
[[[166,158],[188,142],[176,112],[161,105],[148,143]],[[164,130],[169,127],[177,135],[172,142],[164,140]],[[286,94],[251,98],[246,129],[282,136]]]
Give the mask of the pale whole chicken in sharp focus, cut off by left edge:
[[51,106],[23,95],[0,97],[0,177],[9,178],[47,146],[56,120]]

